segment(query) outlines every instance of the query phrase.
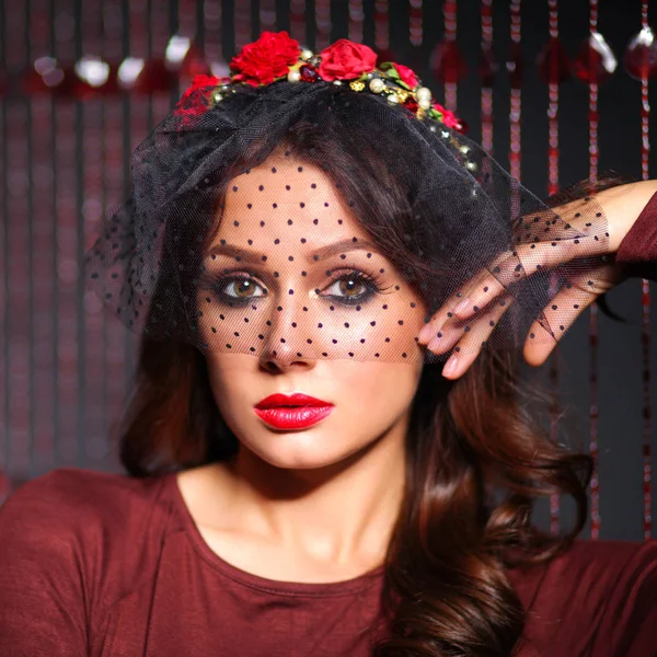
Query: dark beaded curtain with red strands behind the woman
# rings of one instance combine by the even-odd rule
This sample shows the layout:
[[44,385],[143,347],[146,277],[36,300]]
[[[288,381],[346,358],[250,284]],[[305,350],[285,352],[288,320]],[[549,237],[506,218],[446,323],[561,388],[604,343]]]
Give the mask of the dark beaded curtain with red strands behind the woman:
[[[609,170],[655,175],[647,0],[1,0],[0,504],[55,468],[120,470],[137,345],[85,291],[82,256],[129,193],[148,129],[264,30],[315,51],[347,37],[410,66],[539,196]],[[625,323],[591,307],[541,374],[580,419],[566,440],[595,458],[583,537],[657,538],[654,286],[608,297]],[[556,532],[568,500],[546,502],[537,522]]]

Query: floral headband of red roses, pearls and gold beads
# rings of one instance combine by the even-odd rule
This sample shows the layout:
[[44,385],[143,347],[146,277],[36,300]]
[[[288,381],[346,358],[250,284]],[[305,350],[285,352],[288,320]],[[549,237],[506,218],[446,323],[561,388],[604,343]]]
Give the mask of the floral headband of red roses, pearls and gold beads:
[[[433,118],[459,132],[465,123],[437,103],[431,91],[407,67],[385,61],[377,67],[377,54],[346,38],[335,42],[319,55],[303,49],[287,32],[263,32],[233,57],[229,78],[196,76],[177,103],[175,114],[185,120],[200,116],[235,93],[239,84],[261,87],[279,80],[292,83],[333,82],[348,84],[357,93],[383,96],[391,105],[402,105],[418,119]],[[194,99],[197,90],[204,90]]]

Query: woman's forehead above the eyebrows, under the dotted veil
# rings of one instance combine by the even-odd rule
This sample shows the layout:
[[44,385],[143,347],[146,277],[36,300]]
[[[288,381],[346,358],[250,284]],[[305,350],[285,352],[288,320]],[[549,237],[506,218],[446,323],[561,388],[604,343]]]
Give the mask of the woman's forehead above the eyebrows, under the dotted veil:
[[243,246],[316,249],[369,235],[321,166],[275,157],[233,178],[216,235]]

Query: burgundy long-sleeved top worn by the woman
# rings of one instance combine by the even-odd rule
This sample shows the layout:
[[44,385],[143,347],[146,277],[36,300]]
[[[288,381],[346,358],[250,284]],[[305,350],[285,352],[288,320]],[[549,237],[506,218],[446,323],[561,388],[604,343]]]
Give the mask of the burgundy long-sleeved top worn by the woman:
[[[657,279],[657,194],[616,261]],[[379,637],[382,568],[333,584],[241,570],[204,541],[173,474],[27,482],[0,508],[0,564],[3,656],[370,657]],[[577,540],[508,576],[528,610],[514,657],[657,656],[657,541]]]

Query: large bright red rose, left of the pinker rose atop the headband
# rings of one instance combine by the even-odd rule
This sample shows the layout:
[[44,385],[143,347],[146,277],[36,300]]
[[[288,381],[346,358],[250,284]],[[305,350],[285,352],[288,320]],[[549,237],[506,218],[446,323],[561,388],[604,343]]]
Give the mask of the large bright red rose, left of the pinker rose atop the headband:
[[299,59],[299,42],[287,32],[263,32],[252,44],[246,44],[232,58],[230,68],[239,71],[234,81],[244,81],[251,87],[269,84],[275,78],[287,76],[289,67]]

